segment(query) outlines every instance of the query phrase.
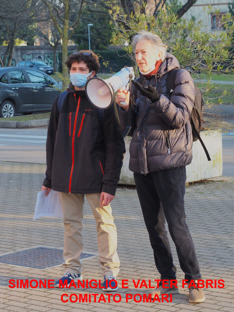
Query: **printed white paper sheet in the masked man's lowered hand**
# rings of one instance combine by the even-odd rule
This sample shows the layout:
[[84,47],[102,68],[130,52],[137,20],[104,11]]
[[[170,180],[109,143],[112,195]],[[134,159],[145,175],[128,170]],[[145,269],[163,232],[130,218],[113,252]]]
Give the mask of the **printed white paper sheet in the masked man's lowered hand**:
[[51,190],[48,196],[46,191],[40,191],[37,194],[37,202],[33,220],[39,217],[63,217],[62,206],[57,191]]

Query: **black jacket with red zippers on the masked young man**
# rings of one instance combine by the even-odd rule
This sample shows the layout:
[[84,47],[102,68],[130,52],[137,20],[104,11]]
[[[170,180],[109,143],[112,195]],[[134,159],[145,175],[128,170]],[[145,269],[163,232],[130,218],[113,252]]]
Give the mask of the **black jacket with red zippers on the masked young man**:
[[64,193],[115,195],[125,146],[114,106],[100,120],[85,91],[69,86],[60,113],[58,97],[51,110],[43,185]]

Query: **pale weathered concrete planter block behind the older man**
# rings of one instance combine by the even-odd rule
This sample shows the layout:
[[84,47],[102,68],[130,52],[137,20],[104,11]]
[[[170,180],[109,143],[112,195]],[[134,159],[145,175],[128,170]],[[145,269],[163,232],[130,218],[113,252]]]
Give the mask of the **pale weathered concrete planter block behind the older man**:
[[[206,154],[199,141],[193,142],[193,160],[186,167],[186,182],[195,182],[207,178],[218,177],[222,175],[222,134],[218,130],[202,131],[201,138],[204,142],[211,161],[207,160]],[[124,155],[123,168],[120,174],[121,184],[134,185],[133,172],[128,168],[129,165],[129,144],[130,137],[124,139],[126,154]]]

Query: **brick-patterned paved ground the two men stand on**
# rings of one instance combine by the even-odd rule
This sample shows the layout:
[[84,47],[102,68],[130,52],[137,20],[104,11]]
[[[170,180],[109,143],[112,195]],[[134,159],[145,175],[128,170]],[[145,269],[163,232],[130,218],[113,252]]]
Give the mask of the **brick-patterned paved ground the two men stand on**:
[[[16,163],[0,161],[0,256],[38,246],[63,248],[63,222],[59,218],[43,217],[32,221],[37,192],[45,172],[44,164]],[[0,262],[0,309],[2,312],[34,311],[199,311],[231,312],[234,307],[234,178],[219,177],[203,183],[189,185],[186,189],[185,202],[187,222],[192,233],[204,280],[224,280],[222,289],[208,287],[204,290],[206,301],[192,305],[188,303],[188,290],[182,288],[183,272],[179,268],[173,243],[174,262],[178,268],[180,294],[174,295],[172,302],[147,303],[135,296],[126,302],[126,294],[149,295],[146,288],[135,289],[132,280],[151,280],[159,275],[154,266],[154,259],[149,238],[144,226],[138,197],[134,189],[118,188],[112,202],[113,215],[118,232],[118,253],[121,261],[117,277],[119,296],[117,303],[110,297],[110,303],[104,301],[63,303],[61,295],[75,294],[72,300],[85,294],[98,294],[96,289],[54,289],[54,288],[9,288],[9,280],[53,279],[63,274],[62,265],[45,269],[4,264]],[[84,213],[85,252],[95,256],[83,260],[84,279],[102,279],[97,256],[96,226],[91,209],[85,202]],[[129,288],[121,287],[121,280],[129,280]],[[113,295],[115,293],[113,292]],[[88,297],[89,298],[89,297]],[[108,300],[105,296],[106,301]],[[66,299],[66,297],[64,297]],[[69,299],[69,297],[68,297]]]

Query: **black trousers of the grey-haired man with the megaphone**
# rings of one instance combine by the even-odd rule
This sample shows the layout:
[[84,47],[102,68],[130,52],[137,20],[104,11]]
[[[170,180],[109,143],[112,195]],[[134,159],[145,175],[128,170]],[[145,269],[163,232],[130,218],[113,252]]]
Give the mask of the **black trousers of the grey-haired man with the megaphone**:
[[154,260],[161,279],[176,279],[168,229],[185,279],[201,279],[193,239],[186,223],[184,194],[186,169],[173,168],[146,175],[134,173],[144,221],[154,251]]

